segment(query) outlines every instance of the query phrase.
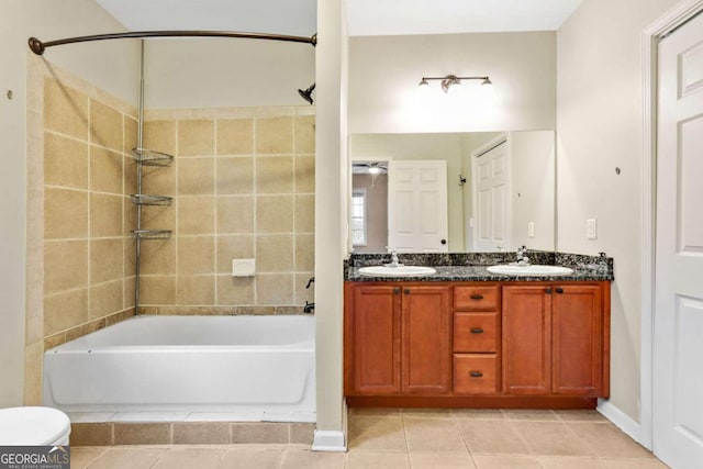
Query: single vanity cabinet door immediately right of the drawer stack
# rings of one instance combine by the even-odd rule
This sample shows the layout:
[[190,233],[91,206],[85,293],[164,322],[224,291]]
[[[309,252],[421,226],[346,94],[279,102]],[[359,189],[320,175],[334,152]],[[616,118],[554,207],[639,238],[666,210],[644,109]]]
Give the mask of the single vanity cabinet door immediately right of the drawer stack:
[[547,394],[551,381],[551,287],[503,287],[503,392]]

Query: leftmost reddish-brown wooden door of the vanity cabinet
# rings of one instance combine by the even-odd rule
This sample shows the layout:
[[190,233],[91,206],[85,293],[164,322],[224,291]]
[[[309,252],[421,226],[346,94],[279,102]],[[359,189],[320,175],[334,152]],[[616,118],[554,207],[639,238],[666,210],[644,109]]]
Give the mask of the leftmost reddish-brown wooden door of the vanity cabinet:
[[347,317],[347,372],[354,394],[391,394],[401,390],[401,290],[393,286],[355,286]]

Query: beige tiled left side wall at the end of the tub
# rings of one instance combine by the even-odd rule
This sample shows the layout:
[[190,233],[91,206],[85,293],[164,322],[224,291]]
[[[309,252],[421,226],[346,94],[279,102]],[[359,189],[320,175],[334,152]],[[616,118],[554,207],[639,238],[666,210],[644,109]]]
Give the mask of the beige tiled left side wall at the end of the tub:
[[133,315],[136,110],[31,58],[25,403],[45,349]]

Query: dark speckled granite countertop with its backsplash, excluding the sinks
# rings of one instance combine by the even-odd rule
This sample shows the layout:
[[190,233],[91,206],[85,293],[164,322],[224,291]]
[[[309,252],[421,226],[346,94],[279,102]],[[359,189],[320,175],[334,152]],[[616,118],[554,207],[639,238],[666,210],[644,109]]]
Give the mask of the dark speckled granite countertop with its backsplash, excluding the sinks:
[[437,272],[419,277],[369,277],[358,272],[359,267],[390,263],[389,254],[353,254],[344,263],[346,281],[599,281],[614,280],[613,258],[607,258],[607,271],[599,272],[588,266],[598,264],[598,256],[528,250],[527,257],[535,265],[565,266],[573,269],[566,276],[509,276],[491,273],[486,268],[515,260],[515,253],[442,253],[399,254],[401,264],[431,266]]

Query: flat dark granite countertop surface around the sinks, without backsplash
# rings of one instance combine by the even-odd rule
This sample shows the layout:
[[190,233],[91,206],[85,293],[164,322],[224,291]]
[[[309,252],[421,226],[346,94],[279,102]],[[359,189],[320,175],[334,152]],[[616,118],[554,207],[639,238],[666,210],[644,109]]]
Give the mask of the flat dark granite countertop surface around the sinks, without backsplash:
[[593,269],[574,269],[566,276],[509,276],[491,273],[487,266],[433,266],[436,273],[420,277],[371,277],[359,273],[358,267],[347,270],[346,281],[602,281],[614,280],[612,272],[599,272]]

